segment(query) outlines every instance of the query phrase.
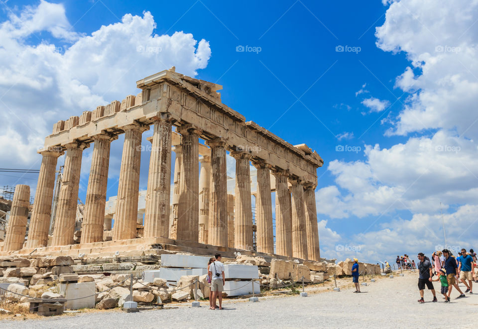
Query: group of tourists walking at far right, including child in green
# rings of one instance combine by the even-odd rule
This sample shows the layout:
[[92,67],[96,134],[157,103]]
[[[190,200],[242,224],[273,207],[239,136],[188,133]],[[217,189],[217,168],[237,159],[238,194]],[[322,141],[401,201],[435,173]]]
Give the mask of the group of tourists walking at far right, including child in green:
[[[435,251],[432,255],[432,261],[423,252],[420,252],[418,253],[418,259],[418,289],[420,290],[418,303],[425,303],[423,299],[425,286],[432,292],[433,302],[438,301],[433,286],[435,281],[440,281],[441,294],[446,303],[450,302],[453,288],[460,293],[457,299],[466,297],[465,293],[473,294],[473,282],[478,282],[477,275],[475,274],[477,254],[473,249],[470,249],[469,252],[466,249],[462,249],[458,257],[455,257],[448,249]],[[433,278],[434,276],[436,278]],[[459,282],[462,282],[467,287],[465,292],[458,286]]]

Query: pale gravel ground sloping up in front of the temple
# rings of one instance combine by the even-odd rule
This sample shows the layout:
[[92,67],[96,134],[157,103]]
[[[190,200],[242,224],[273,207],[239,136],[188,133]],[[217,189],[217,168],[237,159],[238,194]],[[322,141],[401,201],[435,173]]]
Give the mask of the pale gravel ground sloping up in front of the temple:
[[478,294],[454,300],[458,296],[454,289],[452,302],[447,304],[439,294],[439,282],[434,282],[439,302],[432,303],[432,294],[425,291],[426,303],[418,304],[417,278],[417,273],[393,279],[382,277],[362,286],[361,294],[348,288],[305,298],[261,297],[258,303],[226,301],[227,309],[223,311],[209,310],[206,302],[201,308],[182,306],[139,313],[114,311],[2,321],[0,328],[211,328],[211,324],[218,328],[438,328],[437,319],[447,315],[453,315],[455,328],[476,327]]

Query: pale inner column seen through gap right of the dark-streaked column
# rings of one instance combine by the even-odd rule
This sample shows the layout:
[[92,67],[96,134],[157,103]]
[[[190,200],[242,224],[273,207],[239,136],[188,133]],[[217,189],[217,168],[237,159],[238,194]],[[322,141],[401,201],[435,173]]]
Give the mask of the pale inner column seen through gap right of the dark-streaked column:
[[211,184],[211,157],[199,158],[199,242],[209,243],[209,185]]

